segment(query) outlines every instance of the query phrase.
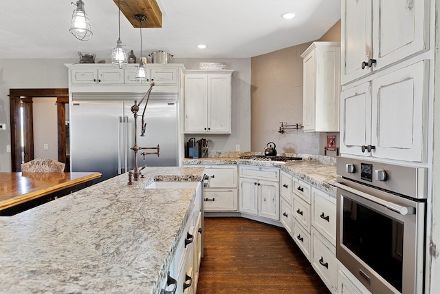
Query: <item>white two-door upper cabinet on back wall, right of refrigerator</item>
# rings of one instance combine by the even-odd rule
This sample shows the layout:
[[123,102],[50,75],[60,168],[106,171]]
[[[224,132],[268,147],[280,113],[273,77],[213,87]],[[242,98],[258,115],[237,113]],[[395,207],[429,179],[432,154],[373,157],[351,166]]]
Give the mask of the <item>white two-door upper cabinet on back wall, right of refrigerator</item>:
[[232,70],[208,73],[188,70],[185,75],[185,132],[231,132]]

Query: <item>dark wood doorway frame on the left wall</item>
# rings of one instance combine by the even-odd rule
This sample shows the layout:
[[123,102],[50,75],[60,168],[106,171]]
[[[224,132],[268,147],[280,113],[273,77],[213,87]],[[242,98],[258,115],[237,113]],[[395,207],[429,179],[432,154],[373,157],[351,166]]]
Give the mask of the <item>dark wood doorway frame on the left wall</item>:
[[21,163],[34,159],[33,98],[56,97],[58,129],[58,161],[69,171],[69,126],[66,108],[69,90],[61,89],[10,89],[10,126],[12,172],[21,171]]

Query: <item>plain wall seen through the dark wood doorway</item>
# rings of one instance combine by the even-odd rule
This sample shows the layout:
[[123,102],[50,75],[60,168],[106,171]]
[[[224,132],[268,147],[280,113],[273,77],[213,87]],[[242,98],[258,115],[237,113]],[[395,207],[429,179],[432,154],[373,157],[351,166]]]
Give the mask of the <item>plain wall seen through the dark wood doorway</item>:
[[[58,160],[58,113],[56,97],[32,99],[34,158]],[[47,150],[44,145],[47,144]]]

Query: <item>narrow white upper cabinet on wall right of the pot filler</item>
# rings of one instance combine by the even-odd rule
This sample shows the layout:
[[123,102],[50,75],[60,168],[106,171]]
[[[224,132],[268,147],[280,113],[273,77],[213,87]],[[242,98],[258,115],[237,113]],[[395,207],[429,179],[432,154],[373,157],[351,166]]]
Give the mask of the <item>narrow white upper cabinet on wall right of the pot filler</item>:
[[301,57],[304,132],[339,132],[340,43],[314,42]]

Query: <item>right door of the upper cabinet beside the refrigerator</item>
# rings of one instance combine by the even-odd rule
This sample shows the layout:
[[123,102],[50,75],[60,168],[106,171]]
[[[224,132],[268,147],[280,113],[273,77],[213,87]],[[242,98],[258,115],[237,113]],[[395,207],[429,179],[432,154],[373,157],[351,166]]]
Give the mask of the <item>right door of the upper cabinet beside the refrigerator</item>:
[[208,74],[208,132],[231,132],[231,76]]

